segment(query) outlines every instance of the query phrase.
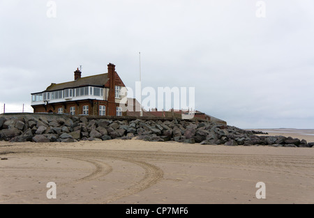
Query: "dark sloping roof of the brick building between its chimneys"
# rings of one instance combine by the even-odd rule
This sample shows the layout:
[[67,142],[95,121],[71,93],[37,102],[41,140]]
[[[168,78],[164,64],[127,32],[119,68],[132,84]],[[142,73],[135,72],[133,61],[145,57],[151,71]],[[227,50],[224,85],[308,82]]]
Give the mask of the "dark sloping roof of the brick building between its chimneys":
[[61,84],[51,84],[45,91],[56,91],[64,88],[76,88],[80,86],[105,86],[108,80],[108,74],[81,77],[75,81],[63,82]]

